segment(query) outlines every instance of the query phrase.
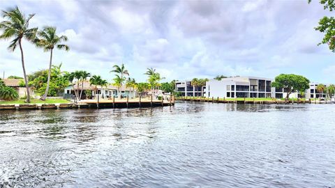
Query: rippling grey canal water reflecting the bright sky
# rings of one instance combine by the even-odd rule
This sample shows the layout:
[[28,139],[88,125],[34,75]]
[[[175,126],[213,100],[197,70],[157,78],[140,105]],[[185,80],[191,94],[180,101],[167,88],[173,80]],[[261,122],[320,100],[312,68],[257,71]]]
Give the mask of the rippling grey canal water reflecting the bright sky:
[[335,187],[335,105],[0,111],[0,187]]

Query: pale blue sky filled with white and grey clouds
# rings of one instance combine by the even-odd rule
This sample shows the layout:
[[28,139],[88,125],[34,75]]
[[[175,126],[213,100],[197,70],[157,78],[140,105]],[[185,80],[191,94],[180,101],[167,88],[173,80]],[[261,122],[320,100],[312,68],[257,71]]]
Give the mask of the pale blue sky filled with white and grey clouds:
[[[112,66],[145,81],[147,68],[165,80],[216,75],[274,78],[281,73],[335,83],[334,56],[315,31],[325,15],[301,1],[3,1],[36,13],[30,26],[57,26],[69,52],[54,51],[66,71],[87,70],[112,82]],[[334,14],[334,13],[333,13]],[[0,17],[0,21],[3,18]],[[20,50],[0,40],[0,72],[22,76]],[[27,72],[46,69],[50,54],[23,43]]]

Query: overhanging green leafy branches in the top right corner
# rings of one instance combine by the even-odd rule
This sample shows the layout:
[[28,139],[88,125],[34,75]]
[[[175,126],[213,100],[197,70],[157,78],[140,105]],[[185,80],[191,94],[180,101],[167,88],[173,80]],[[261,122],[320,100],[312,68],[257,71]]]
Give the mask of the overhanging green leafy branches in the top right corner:
[[[311,3],[311,0],[308,0],[308,3]],[[328,9],[331,12],[335,10],[334,0],[320,0],[320,3],[325,10]],[[335,52],[335,17],[322,17],[319,21],[319,25],[315,27],[315,30],[325,33],[325,37],[318,45],[328,45],[329,49]]]

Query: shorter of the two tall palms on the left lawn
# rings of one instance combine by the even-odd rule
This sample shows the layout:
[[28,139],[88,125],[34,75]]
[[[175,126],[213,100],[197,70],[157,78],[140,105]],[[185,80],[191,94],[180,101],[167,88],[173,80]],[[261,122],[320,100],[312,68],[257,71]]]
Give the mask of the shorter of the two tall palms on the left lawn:
[[47,88],[45,88],[45,93],[40,100],[45,100],[47,98],[47,93],[49,92],[50,85],[50,75],[52,68],[52,51],[54,47],[58,49],[64,49],[68,51],[70,48],[67,45],[61,45],[60,42],[67,41],[66,36],[57,36],[56,27],[46,26],[43,31],[38,31],[39,38],[36,40],[36,46],[42,47],[44,52],[50,51],[50,63],[49,63],[49,72],[47,73]]

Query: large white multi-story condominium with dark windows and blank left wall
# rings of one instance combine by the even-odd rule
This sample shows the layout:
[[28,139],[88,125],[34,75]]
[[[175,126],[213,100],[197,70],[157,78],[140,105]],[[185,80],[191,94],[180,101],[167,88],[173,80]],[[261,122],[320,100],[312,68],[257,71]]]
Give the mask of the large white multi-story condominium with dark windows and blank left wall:
[[[271,87],[271,81],[260,77],[211,79],[206,83],[206,97],[286,97],[286,89]],[[291,93],[290,97],[298,97],[298,93]]]

